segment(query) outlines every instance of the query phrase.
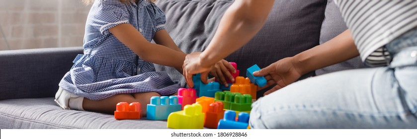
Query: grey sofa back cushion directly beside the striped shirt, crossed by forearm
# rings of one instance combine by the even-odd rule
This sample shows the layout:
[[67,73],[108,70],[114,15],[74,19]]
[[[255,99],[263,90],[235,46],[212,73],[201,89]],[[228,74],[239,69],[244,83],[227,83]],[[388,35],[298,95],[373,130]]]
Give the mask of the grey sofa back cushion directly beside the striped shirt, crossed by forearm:
[[[331,40],[332,38],[345,31],[346,29],[347,27],[341,16],[339,8],[333,0],[328,0],[325,12],[325,20],[323,21],[322,29],[320,31],[320,44],[323,44]],[[362,64],[360,57],[358,56],[345,62],[341,62],[339,64],[316,70],[316,75],[321,75],[339,70],[358,69],[364,67],[365,65]]]

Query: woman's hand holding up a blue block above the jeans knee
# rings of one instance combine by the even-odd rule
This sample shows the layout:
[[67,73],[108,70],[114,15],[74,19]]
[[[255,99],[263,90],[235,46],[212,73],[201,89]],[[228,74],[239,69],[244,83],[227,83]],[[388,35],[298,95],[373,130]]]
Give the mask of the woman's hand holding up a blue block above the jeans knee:
[[253,75],[255,76],[265,76],[265,79],[268,81],[265,86],[258,88],[258,90],[276,84],[263,95],[281,89],[301,77],[302,73],[300,72],[300,69],[294,66],[292,60],[292,57],[284,58],[266,68],[253,72]]

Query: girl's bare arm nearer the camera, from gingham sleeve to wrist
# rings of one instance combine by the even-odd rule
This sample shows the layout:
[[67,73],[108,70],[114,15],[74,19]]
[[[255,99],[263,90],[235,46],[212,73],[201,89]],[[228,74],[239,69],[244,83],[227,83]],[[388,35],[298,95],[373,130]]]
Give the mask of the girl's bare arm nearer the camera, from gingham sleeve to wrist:
[[148,42],[132,25],[120,24],[110,28],[109,31],[143,60],[176,69],[182,68],[186,54]]

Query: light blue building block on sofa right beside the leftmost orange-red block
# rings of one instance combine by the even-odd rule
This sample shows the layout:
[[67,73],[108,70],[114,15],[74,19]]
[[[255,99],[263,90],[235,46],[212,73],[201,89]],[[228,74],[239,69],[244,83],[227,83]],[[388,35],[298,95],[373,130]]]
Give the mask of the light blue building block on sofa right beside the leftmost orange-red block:
[[168,115],[176,111],[181,111],[181,104],[178,104],[178,97],[153,96],[151,97],[151,104],[147,105],[146,119],[167,120]]

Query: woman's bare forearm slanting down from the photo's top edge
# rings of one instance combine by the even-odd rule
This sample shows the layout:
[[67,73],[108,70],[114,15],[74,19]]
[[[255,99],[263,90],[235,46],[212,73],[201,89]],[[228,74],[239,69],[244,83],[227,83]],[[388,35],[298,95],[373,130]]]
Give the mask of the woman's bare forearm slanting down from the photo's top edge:
[[260,30],[268,17],[274,0],[235,0],[223,15],[216,34],[200,55],[203,67],[226,58]]

